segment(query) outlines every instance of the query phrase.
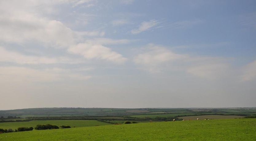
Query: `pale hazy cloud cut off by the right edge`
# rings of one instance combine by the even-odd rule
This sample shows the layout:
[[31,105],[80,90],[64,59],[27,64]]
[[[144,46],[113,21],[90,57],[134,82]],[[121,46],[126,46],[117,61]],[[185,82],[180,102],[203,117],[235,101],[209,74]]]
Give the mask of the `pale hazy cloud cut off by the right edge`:
[[256,77],[256,60],[243,68],[242,81],[250,81]]

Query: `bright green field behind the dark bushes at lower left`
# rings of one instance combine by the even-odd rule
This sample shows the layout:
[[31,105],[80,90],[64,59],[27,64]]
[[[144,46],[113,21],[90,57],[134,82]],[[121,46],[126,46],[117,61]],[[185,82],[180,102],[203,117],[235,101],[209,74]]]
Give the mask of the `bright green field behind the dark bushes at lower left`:
[[2,129],[17,129],[18,127],[36,127],[37,124],[52,124],[52,125],[69,125],[71,128],[75,127],[86,127],[86,126],[98,126],[98,125],[109,125],[108,123],[100,122],[97,120],[32,120],[22,122],[4,122],[0,123]]

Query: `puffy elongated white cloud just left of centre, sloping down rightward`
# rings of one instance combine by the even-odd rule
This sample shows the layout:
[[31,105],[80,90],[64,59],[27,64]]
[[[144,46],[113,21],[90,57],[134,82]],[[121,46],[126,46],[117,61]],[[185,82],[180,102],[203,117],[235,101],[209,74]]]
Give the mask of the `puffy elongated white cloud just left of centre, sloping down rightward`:
[[83,55],[86,59],[103,59],[114,63],[124,63],[127,58],[101,44],[80,43],[68,49],[70,53]]

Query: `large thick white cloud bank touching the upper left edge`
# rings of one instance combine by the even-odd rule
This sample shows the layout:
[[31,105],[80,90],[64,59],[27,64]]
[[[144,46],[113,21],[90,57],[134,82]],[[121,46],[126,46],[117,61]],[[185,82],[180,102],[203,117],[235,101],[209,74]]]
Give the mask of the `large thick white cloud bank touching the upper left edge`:
[[67,47],[74,44],[78,36],[60,21],[39,18],[30,13],[0,15],[0,40],[11,43],[37,41],[47,46]]

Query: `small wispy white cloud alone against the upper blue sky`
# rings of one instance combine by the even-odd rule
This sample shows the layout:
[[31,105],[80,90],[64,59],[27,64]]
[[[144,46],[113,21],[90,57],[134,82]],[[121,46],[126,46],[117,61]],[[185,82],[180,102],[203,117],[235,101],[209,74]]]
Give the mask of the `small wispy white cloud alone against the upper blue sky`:
[[138,34],[140,32],[144,32],[147,30],[152,29],[153,27],[156,27],[157,25],[159,25],[161,22],[157,21],[157,20],[151,20],[151,21],[144,21],[140,24],[140,26],[138,27],[138,29],[133,29],[131,30],[132,34]]

